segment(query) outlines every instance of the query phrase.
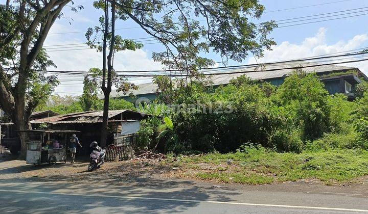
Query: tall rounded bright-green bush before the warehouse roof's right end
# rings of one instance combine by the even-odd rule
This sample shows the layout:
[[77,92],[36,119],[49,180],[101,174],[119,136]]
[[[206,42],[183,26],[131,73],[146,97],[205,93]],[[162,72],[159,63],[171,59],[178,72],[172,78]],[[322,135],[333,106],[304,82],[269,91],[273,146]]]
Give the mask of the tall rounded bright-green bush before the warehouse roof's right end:
[[314,74],[297,71],[285,78],[274,97],[293,125],[303,130],[303,140],[314,140],[330,131],[328,91]]

